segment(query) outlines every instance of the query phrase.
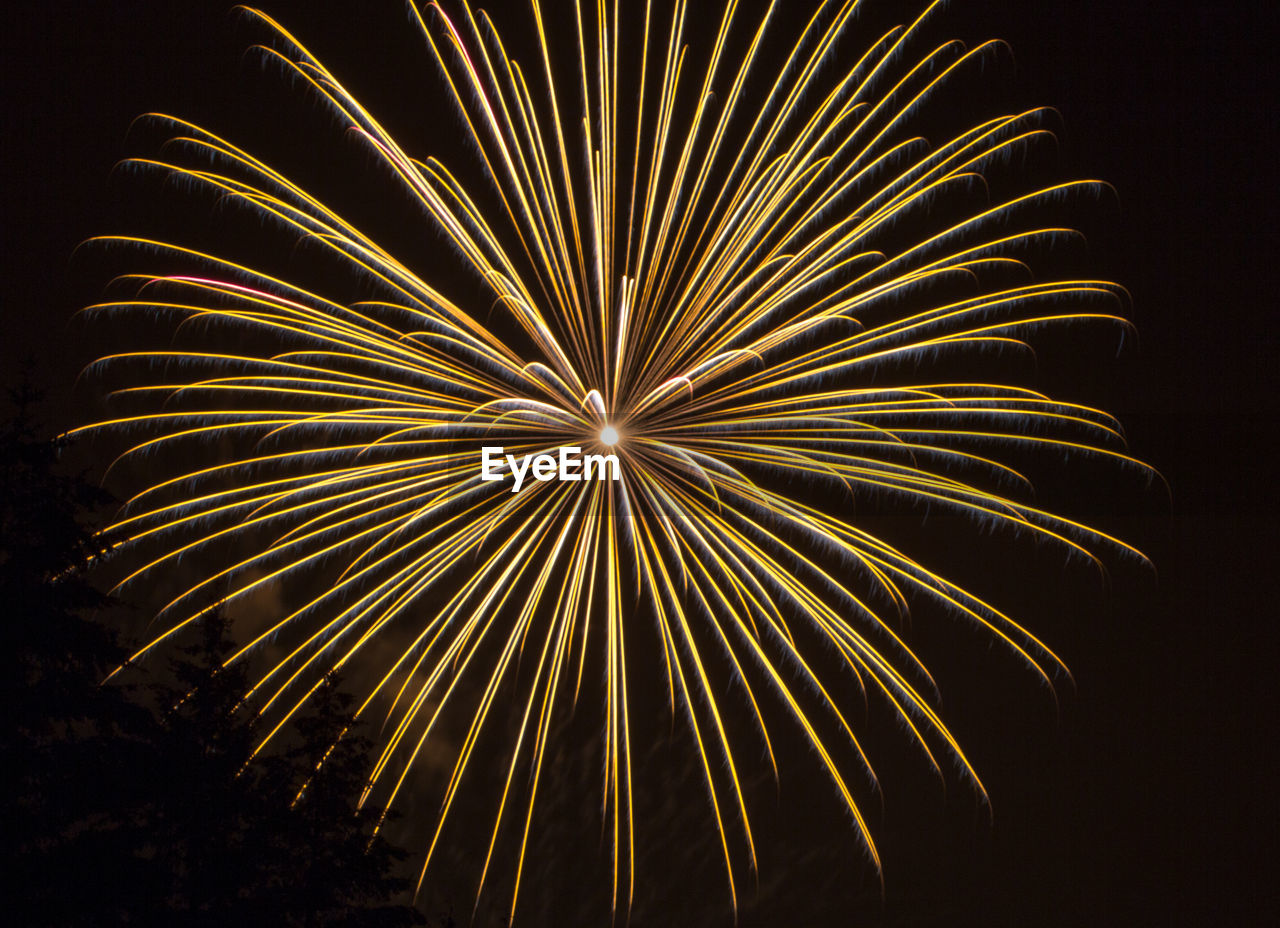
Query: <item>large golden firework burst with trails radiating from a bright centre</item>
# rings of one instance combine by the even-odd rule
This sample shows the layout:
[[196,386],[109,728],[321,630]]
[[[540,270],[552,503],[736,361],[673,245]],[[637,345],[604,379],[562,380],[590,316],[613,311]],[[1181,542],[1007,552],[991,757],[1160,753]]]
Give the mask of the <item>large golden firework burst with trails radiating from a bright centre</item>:
[[[776,4],[744,29],[728,3],[700,74],[687,55],[687,3],[672,5],[666,27],[646,6],[631,56],[617,4],[588,6],[576,8],[576,84],[558,70],[538,0],[530,3],[534,72],[508,56],[485,14],[465,4],[413,8],[484,189],[434,157],[411,157],[301,42],[252,12],[283,44],[264,54],[364,138],[527,349],[284,173],[192,123],[155,116],[191,161],[136,164],[273,219],[356,274],[369,300],[343,306],[216,255],[106,239],[200,270],[140,275],[136,297],[93,311],[159,314],[179,329],[202,324],[202,333],[232,328],[261,347],[102,358],[101,366],[142,371],[148,383],[124,393],[163,406],[86,428],[141,433],[123,457],[165,452],[156,465],[228,436],[251,449],[196,470],[179,466],[133,497],[110,530],[122,547],[163,545],[122,585],[179,561],[207,564],[160,611],[161,634],[136,657],[214,609],[326,571],[324,589],[230,658],[250,659],[279,634],[297,634],[247,696],[270,719],[261,746],[326,672],[365,659],[392,630],[408,630],[410,644],[375,668],[378,682],[360,707],[361,714],[389,707],[361,801],[393,803],[442,719],[451,712],[468,719],[424,876],[499,695],[516,685],[522,659],[534,662],[517,696],[520,723],[480,876],[483,890],[499,838],[518,831],[512,913],[552,730],[566,704],[589,692],[590,653],[605,668],[602,808],[613,904],[631,902],[628,677],[650,671],[628,664],[637,628],[625,620],[639,596],[671,709],[696,742],[736,906],[735,835],[753,870],[755,846],[717,668],[745,691],[774,772],[762,707],[781,707],[800,727],[877,865],[837,758],[851,748],[868,772],[870,764],[801,641],[824,641],[864,692],[901,718],[928,763],[941,772],[941,748],[979,790],[931,707],[932,678],[892,620],[911,599],[928,598],[1046,681],[1065,669],[993,605],[783,488],[799,477],[846,497],[942,506],[1092,559],[1096,550],[1138,556],[991,489],[1029,486],[998,460],[1002,449],[1142,467],[1121,451],[1106,413],[998,384],[870,385],[873,374],[902,361],[927,369],[940,356],[1023,346],[1053,325],[1125,325],[1116,308],[1124,293],[1101,280],[1028,280],[1024,256],[1074,234],[1034,218],[1098,182],[986,198],[983,172],[1048,134],[1041,111],[992,118],[932,146],[909,134],[913,114],[995,47],[945,42],[922,54],[936,4],[852,58],[837,52],[849,47],[856,4],[823,4],[763,100],[753,87],[771,68],[763,47]],[[735,65],[730,47],[742,36]],[[620,106],[628,73],[639,100],[634,128]],[[941,221],[940,201],[979,206]],[[904,227],[920,234],[887,247]],[[901,315],[902,306],[925,308]],[[480,479],[474,449],[492,435],[525,454],[562,444],[603,449],[605,429],[622,463],[617,484],[539,483],[512,495]],[[227,544],[242,553],[219,553]],[[442,590],[443,605],[424,612],[424,595]],[[524,657],[526,646],[535,657]],[[470,704],[468,687],[479,687]]]

